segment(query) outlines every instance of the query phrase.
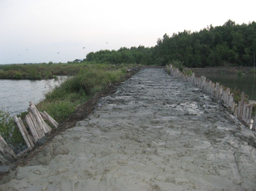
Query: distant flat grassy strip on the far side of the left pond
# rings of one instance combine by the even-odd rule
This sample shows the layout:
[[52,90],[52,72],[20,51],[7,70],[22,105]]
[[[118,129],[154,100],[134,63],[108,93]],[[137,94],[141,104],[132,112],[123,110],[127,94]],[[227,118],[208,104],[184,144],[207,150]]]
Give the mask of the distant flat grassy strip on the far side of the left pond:
[[95,62],[0,65],[0,79],[51,79],[55,75],[75,75]]

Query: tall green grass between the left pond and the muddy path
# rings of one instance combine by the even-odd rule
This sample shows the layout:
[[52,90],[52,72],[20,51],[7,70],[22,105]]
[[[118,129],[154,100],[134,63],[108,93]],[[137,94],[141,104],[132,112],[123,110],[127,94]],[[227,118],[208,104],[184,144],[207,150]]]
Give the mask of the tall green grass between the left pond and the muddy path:
[[37,108],[45,110],[56,121],[62,121],[72,114],[76,107],[103,90],[109,83],[121,81],[126,74],[124,66],[95,64],[81,69],[59,86],[45,94]]

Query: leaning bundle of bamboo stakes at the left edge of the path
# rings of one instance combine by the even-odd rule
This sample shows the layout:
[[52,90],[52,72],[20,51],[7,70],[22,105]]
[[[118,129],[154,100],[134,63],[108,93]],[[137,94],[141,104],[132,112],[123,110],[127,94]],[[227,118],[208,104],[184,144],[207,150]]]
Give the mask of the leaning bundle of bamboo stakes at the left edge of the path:
[[25,117],[28,127],[24,125],[20,117],[17,117],[16,115],[13,116],[14,122],[20,129],[20,133],[23,136],[28,148],[16,155],[12,148],[0,136],[0,160],[6,164],[17,160],[22,154],[31,150],[39,139],[43,138],[46,133],[50,133],[52,131],[52,128],[45,121],[48,121],[48,123],[55,128],[57,128],[59,125],[45,111],[39,112],[36,109],[33,101],[29,101],[29,104],[30,106],[28,107],[28,114]]

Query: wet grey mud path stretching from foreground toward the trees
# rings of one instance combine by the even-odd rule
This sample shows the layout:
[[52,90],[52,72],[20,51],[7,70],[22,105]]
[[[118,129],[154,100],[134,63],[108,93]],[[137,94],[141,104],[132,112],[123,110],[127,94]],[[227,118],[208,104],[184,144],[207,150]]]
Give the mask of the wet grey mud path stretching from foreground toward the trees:
[[255,190],[256,137],[208,95],[142,69],[0,190]]

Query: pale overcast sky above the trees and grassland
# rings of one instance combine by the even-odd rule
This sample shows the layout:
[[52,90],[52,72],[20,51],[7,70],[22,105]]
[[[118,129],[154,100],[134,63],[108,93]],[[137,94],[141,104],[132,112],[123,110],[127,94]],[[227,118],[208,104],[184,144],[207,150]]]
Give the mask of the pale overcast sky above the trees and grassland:
[[164,33],[199,31],[228,19],[256,21],[255,2],[0,0],[0,64],[67,62],[100,49],[151,47]]

